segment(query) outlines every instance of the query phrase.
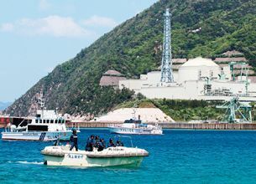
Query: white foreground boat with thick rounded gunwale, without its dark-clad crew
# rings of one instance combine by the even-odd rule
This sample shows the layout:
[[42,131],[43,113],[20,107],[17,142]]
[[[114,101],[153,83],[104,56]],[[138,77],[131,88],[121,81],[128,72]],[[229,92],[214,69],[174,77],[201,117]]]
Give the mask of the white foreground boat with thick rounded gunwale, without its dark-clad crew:
[[47,166],[140,166],[144,156],[149,152],[137,147],[116,146],[103,151],[70,151],[70,145],[46,146],[41,154],[44,155],[44,165]]

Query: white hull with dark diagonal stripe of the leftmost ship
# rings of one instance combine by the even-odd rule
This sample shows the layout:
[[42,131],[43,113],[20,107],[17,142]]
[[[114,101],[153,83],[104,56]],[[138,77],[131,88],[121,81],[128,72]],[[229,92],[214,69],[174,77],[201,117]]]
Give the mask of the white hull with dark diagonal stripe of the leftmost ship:
[[2,132],[2,139],[5,141],[69,141],[71,131],[24,131],[24,132]]

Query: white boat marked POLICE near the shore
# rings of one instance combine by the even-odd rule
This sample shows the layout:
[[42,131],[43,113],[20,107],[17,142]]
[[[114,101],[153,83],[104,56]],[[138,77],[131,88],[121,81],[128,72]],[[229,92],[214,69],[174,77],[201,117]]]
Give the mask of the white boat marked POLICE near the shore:
[[122,125],[109,126],[109,131],[113,134],[136,134],[136,135],[162,135],[163,130],[160,125],[148,125],[141,120],[125,120]]

